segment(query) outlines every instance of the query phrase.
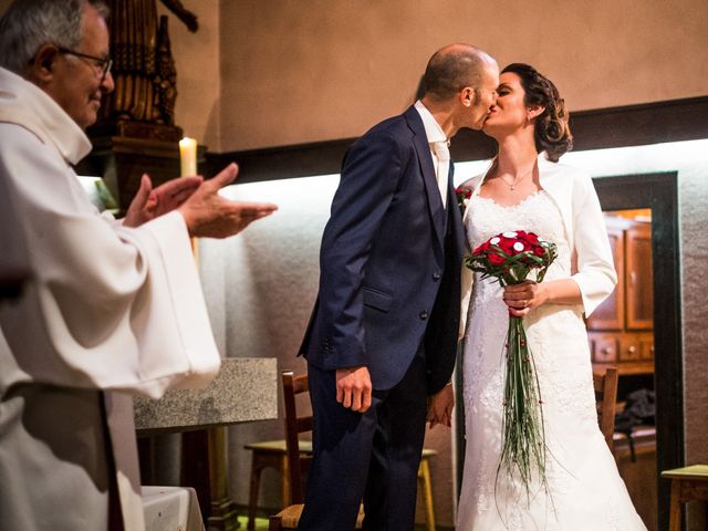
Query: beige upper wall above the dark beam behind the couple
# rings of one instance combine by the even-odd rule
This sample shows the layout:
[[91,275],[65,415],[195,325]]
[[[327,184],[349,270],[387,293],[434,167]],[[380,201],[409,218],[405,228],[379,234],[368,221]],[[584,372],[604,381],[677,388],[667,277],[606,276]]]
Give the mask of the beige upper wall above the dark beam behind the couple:
[[[361,135],[404,110],[433,51],[477,44],[548,73],[571,110],[708,93],[705,0],[220,2],[219,150]],[[185,108],[201,95],[180,87]],[[205,112],[208,110],[205,108]]]

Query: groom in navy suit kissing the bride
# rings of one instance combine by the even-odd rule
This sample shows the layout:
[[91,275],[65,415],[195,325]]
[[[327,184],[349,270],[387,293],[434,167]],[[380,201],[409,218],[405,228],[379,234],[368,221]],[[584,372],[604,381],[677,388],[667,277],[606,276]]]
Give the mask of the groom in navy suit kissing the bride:
[[301,531],[413,530],[430,424],[450,425],[461,217],[448,139],[481,129],[499,69],[468,44],[437,51],[426,92],[347,152],[320,254],[308,358],[314,462]]

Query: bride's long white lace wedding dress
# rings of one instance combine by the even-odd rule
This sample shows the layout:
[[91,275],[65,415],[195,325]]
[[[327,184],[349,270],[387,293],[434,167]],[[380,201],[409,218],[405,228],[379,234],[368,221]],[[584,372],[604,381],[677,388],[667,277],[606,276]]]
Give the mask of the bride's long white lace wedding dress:
[[[472,249],[499,232],[527,230],[558,246],[545,280],[571,275],[559,209],[545,191],[513,207],[472,196],[466,230]],[[582,305],[544,304],[524,317],[535,361],[546,444],[548,491],[529,496],[502,469],[504,339],[508,313],[494,279],[476,273],[464,354],[466,455],[457,531],[634,531],[637,516],[597,426]]]

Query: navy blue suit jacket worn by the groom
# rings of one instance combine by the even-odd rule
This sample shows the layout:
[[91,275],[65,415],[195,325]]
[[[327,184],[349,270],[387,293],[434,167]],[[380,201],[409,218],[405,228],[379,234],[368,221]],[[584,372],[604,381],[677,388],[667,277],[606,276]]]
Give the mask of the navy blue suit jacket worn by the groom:
[[[450,165],[451,175],[451,165]],[[366,365],[396,385],[425,342],[428,393],[450,378],[459,330],[461,216],[447,210],[410,107],[348,149],[320,252],[320,292],[300,353],[325,371]]]

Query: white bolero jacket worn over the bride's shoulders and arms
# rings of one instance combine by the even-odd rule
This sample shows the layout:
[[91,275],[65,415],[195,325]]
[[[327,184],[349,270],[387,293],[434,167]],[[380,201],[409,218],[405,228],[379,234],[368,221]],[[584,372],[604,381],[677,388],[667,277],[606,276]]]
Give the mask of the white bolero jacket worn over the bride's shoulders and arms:
[[[614,290],[617,283],[612,250],[602,209],[593,181],[587,174],[561,163],[550,162],[545,153],[538,158],[539,179],[563,218],[565,235],[573,251],[575,271],[571,275],[581,291],[583,310],[590,315]],[[461,186],[479,194],[488,170]],[[467,219],[469,207],[465,210]],[[461,322],[467,324],[467,309],[472,292],[472,272],[462,266]],[[462,333],[460,334],[460,336]]]

